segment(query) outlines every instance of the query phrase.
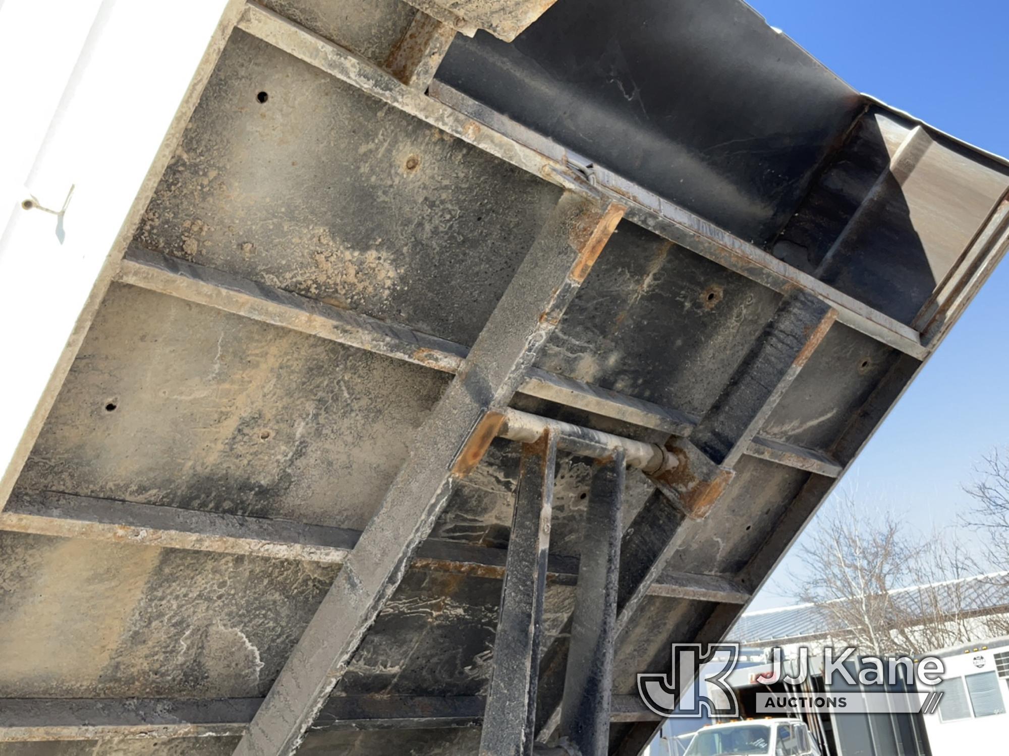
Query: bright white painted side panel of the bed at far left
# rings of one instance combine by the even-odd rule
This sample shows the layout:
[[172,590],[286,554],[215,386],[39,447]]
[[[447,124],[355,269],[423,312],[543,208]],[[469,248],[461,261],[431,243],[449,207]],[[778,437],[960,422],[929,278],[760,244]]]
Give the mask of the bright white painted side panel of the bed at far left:
[[[57,400],[130,235],[140,224],[158,177],[213,76],[242,3],[199,0],[180,4],[179,12],[165,19],[164,33],[186,38],[165,50],[163,65],[138,64],[147,66],[142,93],[112,99],[106,93],[135,86],[136,69],[122,61],[140,59],[148,50],[138,29],[148,22],[149,9],[124,5],[78,10],[80,15],[62,16],[59,29],[29,28],[11,37],[29,40],[25,49],[32,49],[30,40],[40,39],[80,49],[88,65],[75,64],[73,56],[57,57],[37,72],[30,85],[33,90],[63,92],[66,88],[73,90],[74,97],[63,99],[59,108],[47,96],[31,98],[22,105],[20,124],[12,123],[15,130],[6,132],[5,163],[8,154],[11,158],[23,153],[35,156],[24,162],[14,158],[18,167],[11,162],[7,168],[11,188],[29,196],[18,198],[23,204],[6,214],[0,229],[0,270],[4,284],[10,285],[0,297],[0,311],[10,324],[30,308],[25,281],[44,279],[52,300],[45,317],[0,333],[4,353],[19,355],[20,364],[5,382],[9,395],[16,398],[0,408],[0,509]],[[82,27],[89,25],[91,30],[85,34]],[[145,113],[143,122],[131,123],[139,111]],[[106,117],[114,125],[93,129]],[[128,136],[123,129],[129,131]],[[115,166],[105,159],[111,152],[123,157]],[[23,172],[14,178],[18,170]],[[28,185],[22,186],[22,180]],[[32,190],[42,199],[34,197]],[[8,202],[14,199],[8,197]],[[45,206],[49,213],[42,212]],[[68,223],[78,219],[76,233],[70,237],[65,218]]]

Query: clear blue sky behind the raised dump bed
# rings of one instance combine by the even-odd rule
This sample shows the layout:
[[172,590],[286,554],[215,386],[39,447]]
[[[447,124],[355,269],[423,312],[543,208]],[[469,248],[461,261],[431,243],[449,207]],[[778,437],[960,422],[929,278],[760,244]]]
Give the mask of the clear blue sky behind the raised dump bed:
[[[983,149],[1009,155],[1005,0],[751,0],[842,79]],[[1009,446],[1009,261],[994,273],[877,431],[842,486],[920,530],[956,523],[962,484]],[[752,609],[782,596],[786,557]],[[777,580],[776,580],[777,579]]]

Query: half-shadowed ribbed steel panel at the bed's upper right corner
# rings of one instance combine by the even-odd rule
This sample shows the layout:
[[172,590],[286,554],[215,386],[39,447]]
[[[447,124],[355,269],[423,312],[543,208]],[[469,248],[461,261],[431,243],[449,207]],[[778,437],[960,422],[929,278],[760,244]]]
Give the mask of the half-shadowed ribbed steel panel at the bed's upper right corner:
[[963,254],[1007,187],[1003,165],[969,158],[933,129],[871,107],[775,254],[917,326],[915,316],[950,273],[969,275],[958,270]]

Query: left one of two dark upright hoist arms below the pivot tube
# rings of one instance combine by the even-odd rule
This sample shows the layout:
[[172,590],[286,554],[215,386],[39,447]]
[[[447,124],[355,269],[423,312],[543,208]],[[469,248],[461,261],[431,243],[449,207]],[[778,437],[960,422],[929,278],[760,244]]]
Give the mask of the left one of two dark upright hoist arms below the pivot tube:
[[480,756],[533,753],[556,466],[557,439],[549,430],[523,447]]

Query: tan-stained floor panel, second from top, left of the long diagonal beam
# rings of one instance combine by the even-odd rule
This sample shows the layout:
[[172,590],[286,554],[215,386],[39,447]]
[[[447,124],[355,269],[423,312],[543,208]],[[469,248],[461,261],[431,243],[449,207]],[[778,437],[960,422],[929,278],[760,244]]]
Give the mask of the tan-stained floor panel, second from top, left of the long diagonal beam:
[[82,350],[19,488],[356,530],[449,381],[122,284]]

